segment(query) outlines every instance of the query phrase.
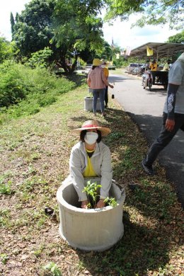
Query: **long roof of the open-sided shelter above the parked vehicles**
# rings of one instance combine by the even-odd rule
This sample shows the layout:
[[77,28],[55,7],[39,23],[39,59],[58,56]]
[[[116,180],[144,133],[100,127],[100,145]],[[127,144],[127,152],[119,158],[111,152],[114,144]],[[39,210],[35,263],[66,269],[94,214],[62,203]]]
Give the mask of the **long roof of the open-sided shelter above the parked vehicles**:
[[154,50],[153,56],[155,59],[160,59],[166,57],[168,59],[173,59],[178,54],[184,52],[184,44],[180,43],[157,43],[157,42],[148,42],[142,46],[139,46],[131,51],[130,56],[134,57],[146,57],[146,48]]

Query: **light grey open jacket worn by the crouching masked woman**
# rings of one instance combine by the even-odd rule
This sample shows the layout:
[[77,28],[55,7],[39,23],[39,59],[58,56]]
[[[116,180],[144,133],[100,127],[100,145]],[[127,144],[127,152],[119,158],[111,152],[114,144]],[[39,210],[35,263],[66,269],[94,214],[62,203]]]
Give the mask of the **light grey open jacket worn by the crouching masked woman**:
[[[70,178],[79,196],[79,201],[87,200],[84,189],[84,173],[87,166],[87,154],[84,142],[79,142],[71,149],[69,160]],[[113,171],[111,166],[110,149],[103,142],[96,144],[96,149],[91,156],[91,163],[97,176],[101,178],[100,198],[108,197],[110,185],[112,183]]]

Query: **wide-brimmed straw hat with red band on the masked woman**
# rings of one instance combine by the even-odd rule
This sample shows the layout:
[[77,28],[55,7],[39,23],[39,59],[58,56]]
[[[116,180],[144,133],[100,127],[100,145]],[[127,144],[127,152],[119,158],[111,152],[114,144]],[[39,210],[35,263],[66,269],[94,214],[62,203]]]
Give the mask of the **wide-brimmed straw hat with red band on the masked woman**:
[[111,132],[108,127],[100,127],[98,121],[96,120],[88,120],[84,122],[82,127],[74,130],[74,133],[80,134],[82,130],[100,130],[102,136],[107,136]]

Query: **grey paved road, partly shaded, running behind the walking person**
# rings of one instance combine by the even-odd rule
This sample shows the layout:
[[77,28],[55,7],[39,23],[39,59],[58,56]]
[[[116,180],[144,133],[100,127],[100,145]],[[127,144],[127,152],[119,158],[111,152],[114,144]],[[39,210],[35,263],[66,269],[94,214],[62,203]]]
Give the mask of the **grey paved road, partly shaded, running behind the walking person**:
[[[161,130],[163,104],[166,91],[163,86],[152,86],[152,90],[144,90],[142,81],[129,75],[111,75],[109,89],[115,95],[122,108],[129,113],[144,132],[149,144]],[[159,163],[166,168],[166,176],[176,185],[178,199],[184,209],[184,132],[179,130],[173,141],[159,154]]]

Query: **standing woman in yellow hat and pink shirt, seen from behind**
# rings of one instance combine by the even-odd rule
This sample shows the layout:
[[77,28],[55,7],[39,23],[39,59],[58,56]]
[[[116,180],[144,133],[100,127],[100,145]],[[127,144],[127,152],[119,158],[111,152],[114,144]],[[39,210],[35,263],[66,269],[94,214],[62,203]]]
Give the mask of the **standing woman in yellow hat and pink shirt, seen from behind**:
[[100,110],[102,116],[105,116],[104,112],[104,99],[105,99],[105,86],[110,86],[114,88],[111,84],[108,83],[108,80],[105,79],[103,68],[100,67],[100,59],[93,59],[92,69],[88,72],[87,83],[88,86],[92,89],[93,92],[93,114],[96,116],[96,105],[98,97],[100,98]]

